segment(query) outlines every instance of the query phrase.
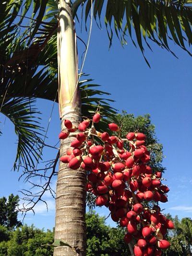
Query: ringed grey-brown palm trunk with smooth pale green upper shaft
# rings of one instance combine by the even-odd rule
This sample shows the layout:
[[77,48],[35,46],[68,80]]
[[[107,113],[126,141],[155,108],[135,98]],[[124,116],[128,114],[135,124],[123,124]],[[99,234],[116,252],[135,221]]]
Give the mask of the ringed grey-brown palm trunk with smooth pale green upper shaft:
[[[81,119],[81,98],[77,86],[77,50],[74,22],[69,0],[60,0],[60,25],[58,29],[58,80],[61,130],[65,130],[64,119],[78,126]],[[70,148],[72,136],[61,140],[60,156]],[[69,169],[67,164],[59,166],[56,190],[55,241],[62,239],[68,246],[54,248],[54,256],[86,255],[85,224],[86,173]]]

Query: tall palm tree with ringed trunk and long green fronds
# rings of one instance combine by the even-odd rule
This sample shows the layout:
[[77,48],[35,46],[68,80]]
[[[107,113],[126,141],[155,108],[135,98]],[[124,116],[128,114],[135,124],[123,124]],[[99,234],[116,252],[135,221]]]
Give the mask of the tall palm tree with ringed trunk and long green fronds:
[[[138,44],[143,55],[144,42],[149,48],[151,42],[155,42],[174,54],[169,48],[170,39],[191,55],[185,46],[185,41],[189,45],[192,43],[191,3],[190,0],[36,0],[33,6],[31,0],[8,0],[0,3],[1,106],[5,104],[5,99],[24,98],[30,106],[31,98],[54,101],[58,94],[61,121],[67,118],[77,125],[82,114],[90,117],[90,113],[94,112],[93,104],[89,103],[98,102],[98,98],[87,97],[83,101],[84,90],[80,92],[73,22],[73,18],[78,17],[80,8],[84,13],[85,24],[89,15],[96,19],[98,26],[105,17],[110,45],[115,32],[122,45],[126,44],[129,34],[133,44]],[[25,17],[31,12],[33,14],[28,19],[30,22],[26,25]],[[133,31],[135,37],[132,36]],[[145,61],[147,62],[146,58]],[[147,64],[149,65],[148,62]],[[90,95],[99,93],[90,90],[88,92]],[[107,112],[101,110],[103,114],[111,113],[109,106],[105,110]],[[32,127],[36,128],[39,127]],[[61,130],[63,129],[61,122]],[[36,141],[32,136],[25,140],[30,141],[31,138]],[[70,146],[71,139],[69,137],[68,140],[61,141],[60,155]],[[25,141],[21,142],[21,145],[24,143]],[[24,162],[25,167],[33,164],[34,158],[40,157],[40,152],[37,151],[37,155],[32,153],[29,158],[28,154],[24,155],[27,148],[21,148],[18,159]],[[81,256],[86,251],[85,183],[84,171],[70,170],[60,163],[55,240],[63,239],[75,249],[76,255]],[[74,252],[67,246],[58,246],[54,255],[71,256]]]

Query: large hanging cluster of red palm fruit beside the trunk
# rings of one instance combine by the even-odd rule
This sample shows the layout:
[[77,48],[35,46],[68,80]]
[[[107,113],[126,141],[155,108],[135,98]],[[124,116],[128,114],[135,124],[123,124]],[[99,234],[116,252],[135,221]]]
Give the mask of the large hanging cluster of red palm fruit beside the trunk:
[[150,152],[144,146],[146,136],[131,132],[120,138],[120,127],[115,123],[110,123],[109,129],[116,135],[101,134],[94,127],[99,121],[99,113],[93,116],[91,127],[89,119],[78,128],[64,121],[66,130],[60,133],[60,139],[79,132],[71,143],[73,149],[67,150],[60,161],[73,170],[81,167],[87,171],[86,190],[96,195],[97,206],[108,207],[112,220],[127,227],[124,241],[137,241],[135,256],[160,256],[161,249],[170,245],[165,235],[174,225],[160,213],[159,206],[150,209],[147,204],[167,202],[169,189],[161,184],[161,172],[153,173],[147,165]]

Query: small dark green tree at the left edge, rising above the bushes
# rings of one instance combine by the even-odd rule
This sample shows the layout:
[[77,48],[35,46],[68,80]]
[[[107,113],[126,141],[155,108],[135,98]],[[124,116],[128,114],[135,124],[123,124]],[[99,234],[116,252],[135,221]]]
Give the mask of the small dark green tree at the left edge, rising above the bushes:
[[17,219],[19,205],[18,195],[9,195],[8,200],[6,197],[0,198],[0,225],[5,226],[8,230],[22,225],[21,221]]

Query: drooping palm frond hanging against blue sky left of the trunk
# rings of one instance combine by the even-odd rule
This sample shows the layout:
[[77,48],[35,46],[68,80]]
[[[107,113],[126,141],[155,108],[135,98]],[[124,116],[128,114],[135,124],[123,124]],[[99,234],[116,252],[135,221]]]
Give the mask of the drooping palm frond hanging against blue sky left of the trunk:
[[39,125],[39,114],[34,108],[35,99],[12,98],[5,99],[1,113],[7,116],[14,124],[15,134],[18,136],[17,155],[13,165],[15,170],[19,166],[35,167],[41,159],[41,147],[39,143],[42,137],[42,128]]

